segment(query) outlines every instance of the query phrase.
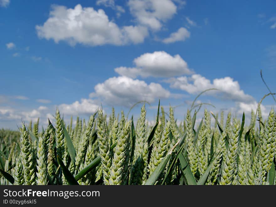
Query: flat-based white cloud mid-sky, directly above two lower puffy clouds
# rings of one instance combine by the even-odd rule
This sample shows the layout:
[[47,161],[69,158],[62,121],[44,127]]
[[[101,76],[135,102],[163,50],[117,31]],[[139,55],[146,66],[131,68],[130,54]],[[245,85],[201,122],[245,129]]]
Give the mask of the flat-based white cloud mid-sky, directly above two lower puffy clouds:
[[135,78],[142,77],[173,77],[176,75],[192,74],[188,64],[180,55],[171,56],[164,51],[144,53],[134,59],[135,68],[119,67],[115,72],[120,75]]

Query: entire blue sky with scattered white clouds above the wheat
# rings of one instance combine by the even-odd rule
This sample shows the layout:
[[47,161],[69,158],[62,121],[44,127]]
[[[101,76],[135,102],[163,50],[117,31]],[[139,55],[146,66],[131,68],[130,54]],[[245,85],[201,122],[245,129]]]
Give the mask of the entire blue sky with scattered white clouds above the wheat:
[[[158,99],[181,120],[199,98],[250,114],[275,90],[275,1],[0,0],[0,128],[45,124],[56,106],[87,118]],[[274,102],[263,101],[267,115]],[[136,117],[141,104],[131,113]],[[207,107],[207,106],[205,106]]]

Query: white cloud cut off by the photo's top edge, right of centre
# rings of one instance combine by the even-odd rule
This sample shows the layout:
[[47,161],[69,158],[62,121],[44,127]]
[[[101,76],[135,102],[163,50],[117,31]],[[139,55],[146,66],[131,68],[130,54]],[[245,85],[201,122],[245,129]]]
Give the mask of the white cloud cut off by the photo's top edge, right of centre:
[[177,10],[171,0],[130,0],[128,6],[139,24],[153,30],[160,30],[162,22],[171,19]]

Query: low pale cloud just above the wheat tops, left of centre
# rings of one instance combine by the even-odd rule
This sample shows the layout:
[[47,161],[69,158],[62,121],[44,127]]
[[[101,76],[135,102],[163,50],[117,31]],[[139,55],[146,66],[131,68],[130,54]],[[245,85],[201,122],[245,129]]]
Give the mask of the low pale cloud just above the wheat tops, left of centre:
[[61,104],[58,106],[61,113],[66,115],[92,114],[97,111],[99,105],[92,99],[81,99],[72,104]]

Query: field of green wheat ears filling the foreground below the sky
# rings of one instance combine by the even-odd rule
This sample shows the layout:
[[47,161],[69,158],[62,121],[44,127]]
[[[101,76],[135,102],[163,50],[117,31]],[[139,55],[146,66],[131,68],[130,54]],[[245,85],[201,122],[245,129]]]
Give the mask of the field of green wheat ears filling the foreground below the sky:
[[[268,94],[269,95],[269,94]],[[160,105],[159,105],[160,106]],[[275,185],[276,115],[262,117],[260,103],[245,116],[223,120],[207,109],[180,124],[174,109],[158,106],[156,124],[146,122],[145,104],[136,124],[124,112],[109,118],[102,109],[75,127],[56,110],[54,123],[39,131],[22,123],[1,130],[3,185]],[[211,126],[211,119],[215,124]],[[109,120],[109,121],[107,121]]]

